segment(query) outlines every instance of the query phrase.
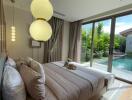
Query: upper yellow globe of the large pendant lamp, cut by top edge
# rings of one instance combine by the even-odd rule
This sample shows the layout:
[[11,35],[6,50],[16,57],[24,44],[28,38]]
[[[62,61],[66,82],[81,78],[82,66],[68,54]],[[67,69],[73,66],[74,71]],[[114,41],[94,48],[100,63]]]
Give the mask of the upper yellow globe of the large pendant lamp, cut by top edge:
[[36,19],[43,18],[48,21],[53,15],[53,7],[49,0],[32,0],[31,12]]

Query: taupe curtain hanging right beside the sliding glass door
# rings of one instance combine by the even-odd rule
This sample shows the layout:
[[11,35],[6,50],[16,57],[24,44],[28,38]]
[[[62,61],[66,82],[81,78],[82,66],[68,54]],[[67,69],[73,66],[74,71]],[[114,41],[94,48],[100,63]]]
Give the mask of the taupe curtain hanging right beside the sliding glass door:
[[70,23],[68,58],[75,62],[80,61],[81,52],[81,20]]

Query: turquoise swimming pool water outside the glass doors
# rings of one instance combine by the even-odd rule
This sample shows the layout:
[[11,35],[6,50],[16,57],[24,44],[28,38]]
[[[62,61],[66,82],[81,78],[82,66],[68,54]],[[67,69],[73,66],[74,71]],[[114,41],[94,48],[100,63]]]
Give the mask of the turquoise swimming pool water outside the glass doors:
[[[101,62],[101,64],[107,65],[108,61],[103,61]],[[112,66],[118,69],[132,71],[132,56],[123,56],[115,58],[112,61]]]

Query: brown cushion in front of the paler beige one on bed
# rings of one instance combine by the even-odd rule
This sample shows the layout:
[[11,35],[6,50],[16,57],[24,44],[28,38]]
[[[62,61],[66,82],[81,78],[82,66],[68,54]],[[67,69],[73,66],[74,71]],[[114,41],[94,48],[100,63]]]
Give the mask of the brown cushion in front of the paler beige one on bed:
[[26,65],[19,69],[28,94],[35,100],[44,100],[45,86],[42,76]]

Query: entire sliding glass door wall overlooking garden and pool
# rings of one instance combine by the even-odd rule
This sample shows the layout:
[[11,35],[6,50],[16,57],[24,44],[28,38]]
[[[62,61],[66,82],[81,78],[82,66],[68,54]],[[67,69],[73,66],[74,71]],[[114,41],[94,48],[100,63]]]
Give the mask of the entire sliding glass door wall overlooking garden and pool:
[[83,24],[81,62],[132,82],[132,12]]

